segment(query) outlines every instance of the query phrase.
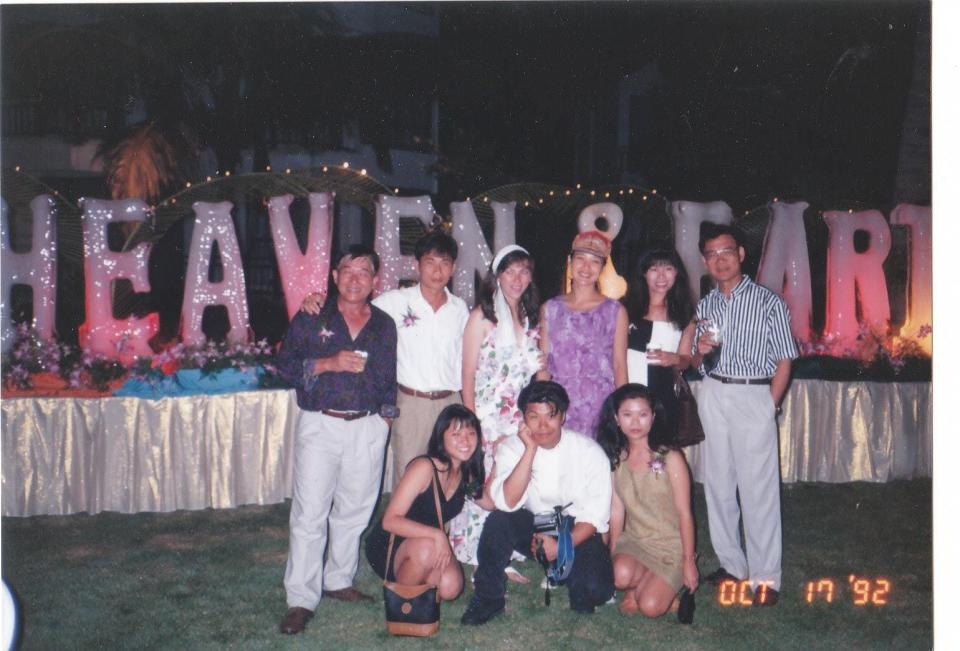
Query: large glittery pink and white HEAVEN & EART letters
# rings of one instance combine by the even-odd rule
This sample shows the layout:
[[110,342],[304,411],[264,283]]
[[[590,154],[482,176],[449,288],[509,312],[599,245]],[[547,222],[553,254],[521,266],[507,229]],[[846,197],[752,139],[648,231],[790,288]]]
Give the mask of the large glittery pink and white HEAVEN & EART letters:
[[[307,241],[301,249],[294,235],[290,217],[292,195],[271,197],[267,201],[274,252],[280,271],[281,285],[288,316],[296,313],[304,296],[327,289],[333,233],[334,194],[309,195],[310,221]],[[33,292],[34,327],[42,336],[50,337],[54,327],[56,305],[56,228],[51,198],[36,197],[31,203],[33,217],[32,245],[29,251],[16,253],[10,247],[8,208],[2,202],[0,245],[3,253],[2,328],[3,346],[12,340],[10,292],[14,285],[28,285]],[[148,206],[139,199],[85,199],[83,208],[83,244],[86,321],[80,326],[81,346],[92,352],[129,361],[136,355],[150,355],[147,341],[158,329],[156,313],[145,317],[117,319],[113,316],[112,287],[126,279],[134,291],[147,292],[150,285],[147,269],[151,251],[149,243],[141,243],[130,251],[115,252],[107,246],[107,228],[119,222],[140,222],[148,214]],[[516,203],[491,202],[494,215],[492,250],[513,243],[516,239]],[[810,341],[812,301],[810,259],[803,213],[806,202],[772,202],[771,219],[763,243],[758,281],[781,294],[791,313],[791,326],[799,341]],[[181,309],[185,343],[201,343],[204,310],[213,305],[224,306],[230,329],[228,338],[246,341],[250,333],[246,283],[240,247],[234,231],[233,205],[223,201],[193,204],[193,236],[187,259],[186,284]],[[699,280],[706,267],[697,248],[700,225],[705,221],[730,224],[733,214],[722,202],[695,203],[674,201],[669,204],[673,218],[674,245],[690,277],[694,297],[699,296]],[[450,204],[452,235],[460,247],[454,292],[467,303],[474,298],[477,273],[487,272],[493,260],[491,247],[484,238],[479,221],[469,201]],[[382,194],[376,200],[374,248],[381,257],[380,284],[377,292],[399,286],[402,280],[416,280],[416,261],[400,251],[400,220],[414,218],[429,226],[435,211],[429,196],[396,197]],[[623,212],[614,203],[596,203],[585,207],[579,215],[581,231],[598,228],[603,218],[604,230],[611,240],[619,234]],[[826,323],[820,336],[829,336],[836,350],[856,338],[861,325],[887,328],[890,300],[883,263],[890,253],[890,226],[876,210],[860,212],[827,211],[823,214],[829,230],[827,247]],[[901,204],[890,215],[890,224],[907,228],[910,236],[909,273],[907,281],[907,319],[901,334],[915,337],[921,326],[932,318],[931,220],[929,206]],[[869,234],[863,250],[854,246],[854,235]],[[223,279],[209,280],[214,244],[220,251]],[[566,247],[567,242],[562,246]],[[601,282],[608,295],[623,294],[625,281],[610,265]],[[123,352],[118,352],[123,342]],[[929,347],[929,340],[922,340]],[[929,348],[927,348],[929,351]]]

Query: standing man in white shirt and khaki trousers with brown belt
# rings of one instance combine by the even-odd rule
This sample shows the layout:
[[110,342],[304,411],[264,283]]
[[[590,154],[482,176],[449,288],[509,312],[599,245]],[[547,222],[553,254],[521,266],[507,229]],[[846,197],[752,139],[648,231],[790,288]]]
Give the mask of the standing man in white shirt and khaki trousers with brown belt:
[[420,282],[384,292],[373,304],[397,324],[397,407],[393,423],[393,488],[407,464],[427,452],[437,416],[460,402],[463,329],[469,310],[447,283],[457,261],[456,241],[431,231],[414,245]]

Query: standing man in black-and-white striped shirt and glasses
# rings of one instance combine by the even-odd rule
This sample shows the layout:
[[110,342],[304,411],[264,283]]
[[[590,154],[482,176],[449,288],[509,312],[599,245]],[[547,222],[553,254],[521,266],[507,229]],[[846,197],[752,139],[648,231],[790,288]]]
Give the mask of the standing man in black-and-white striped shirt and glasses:
[[753,605],[772,606],[781,578],[776,415],[797,346],[783,299],[741,271],[741,238],[730,226],[701,228],[700,252],[717,286],[697,305],[693,353],[704,375],[697,403],[706,434],[707,520],[721,564],[706,579],[748,580]]

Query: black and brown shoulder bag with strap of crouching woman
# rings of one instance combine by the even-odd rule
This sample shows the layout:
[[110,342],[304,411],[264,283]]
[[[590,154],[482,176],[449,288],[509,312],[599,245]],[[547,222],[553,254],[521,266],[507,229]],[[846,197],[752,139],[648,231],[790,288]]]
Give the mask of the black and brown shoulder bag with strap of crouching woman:
[[[433,460],[430,461],[433,464]],[[440,512],[440,491],[437,486],[437,469],[433,469],[433,501],[437,507],[437,524],[443,529]],[[387,545],[387,564],[384,573],[390,574],[393,556],[394,534]],[[440,628],[440,593],[430,583],[405,585],[383,580],[383,606],[386,610],[387,632],[391,635],[429,637]]]

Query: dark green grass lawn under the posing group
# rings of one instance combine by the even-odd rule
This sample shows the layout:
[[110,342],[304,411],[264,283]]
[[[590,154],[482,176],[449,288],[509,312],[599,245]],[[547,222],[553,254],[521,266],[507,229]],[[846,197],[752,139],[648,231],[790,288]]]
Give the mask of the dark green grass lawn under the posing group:
[[[716,568],[702,486],[695,486],[700,571]],[[792,484],[783,488],[784,575],[779,605],[723,606],[710,586],[697,593],[692,626],[674,615],[623,617],[615,606],[576,615],[566,592],[543,605],[542,572],[509,584],[507,613],[460,626],[467,594],[443,606],[440,632],[425,642],[389,637],[376,576],[361,557],[357,586],[373,605],[325,600],[307,631],[277,630],[286,604],[283,569],[289,502],[165,514],[4,518],[3,574],[24,613],[23,649],[167,648],[930,648],[931,482]],[[885,577],[883,606],[855,606],[849,576],[872,590]],[[806,584],[829,578],[813,604]],[[880,597],[877,597],[880,599]]]

